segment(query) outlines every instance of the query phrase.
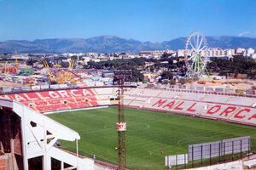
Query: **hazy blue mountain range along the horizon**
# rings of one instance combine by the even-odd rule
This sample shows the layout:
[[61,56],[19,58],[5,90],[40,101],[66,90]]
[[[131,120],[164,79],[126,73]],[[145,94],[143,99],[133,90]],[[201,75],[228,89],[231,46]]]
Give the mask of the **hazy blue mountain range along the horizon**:
[[[206,37],[210,48],[256,48],[256,38],[252,37]],[[178,37],[165,42],[140,42],[115,36],[83,38],[53,38],[26,40],[8,40],[0,42],[0,54],[7,53],[137,53],[143,50],[182,49],[187,37]]]

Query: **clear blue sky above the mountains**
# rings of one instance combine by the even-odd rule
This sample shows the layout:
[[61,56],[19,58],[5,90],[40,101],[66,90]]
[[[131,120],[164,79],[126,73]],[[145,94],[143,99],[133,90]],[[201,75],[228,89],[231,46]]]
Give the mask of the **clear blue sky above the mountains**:
[[0,41],[115,35],[256,37],[256,0],[0,0]]

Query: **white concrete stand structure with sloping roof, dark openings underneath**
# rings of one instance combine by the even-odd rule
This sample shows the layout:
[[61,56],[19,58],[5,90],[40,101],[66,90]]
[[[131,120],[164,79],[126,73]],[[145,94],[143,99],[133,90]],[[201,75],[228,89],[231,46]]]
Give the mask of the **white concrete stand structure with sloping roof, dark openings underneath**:
[[18,102],[0,99],[0,169],[86,169],[94,161],[55,147],[58,139],[76,141],[79,133]]

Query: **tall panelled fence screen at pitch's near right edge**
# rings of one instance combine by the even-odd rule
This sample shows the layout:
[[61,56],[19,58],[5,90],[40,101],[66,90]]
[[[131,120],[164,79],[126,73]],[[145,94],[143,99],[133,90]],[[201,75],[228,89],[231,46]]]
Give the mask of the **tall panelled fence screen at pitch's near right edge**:
[[188,153],[165,157],[168,169],[185,169],[210,166],[228,161],[250,159],[255,154],[256,145],[250,136],[224,139],[210,143],[189,144]]

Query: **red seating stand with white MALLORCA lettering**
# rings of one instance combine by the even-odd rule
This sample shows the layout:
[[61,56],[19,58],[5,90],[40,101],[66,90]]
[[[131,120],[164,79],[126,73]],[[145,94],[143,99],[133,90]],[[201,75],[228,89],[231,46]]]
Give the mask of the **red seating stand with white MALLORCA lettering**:
[[78,88],[2,94],[0,99],[12,99],[44,113],[111,105],[110,98],[113,93],[115,93],[115,88]]

